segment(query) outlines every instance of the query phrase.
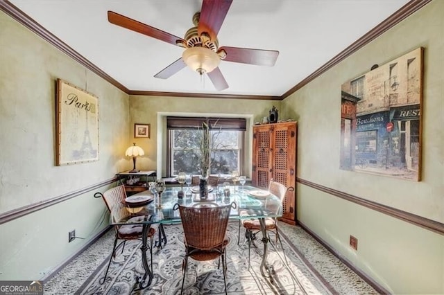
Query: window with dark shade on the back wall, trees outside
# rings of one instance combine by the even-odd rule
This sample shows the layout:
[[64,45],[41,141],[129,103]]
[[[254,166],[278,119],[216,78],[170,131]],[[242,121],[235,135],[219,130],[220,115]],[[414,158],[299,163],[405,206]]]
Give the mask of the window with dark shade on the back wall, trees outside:
[[210,125],[211,170],[213,175],[241,172],[246,120],[232,118],[168,117],[169,176],[178,172],[199,175],[199,142],[203,122]]

